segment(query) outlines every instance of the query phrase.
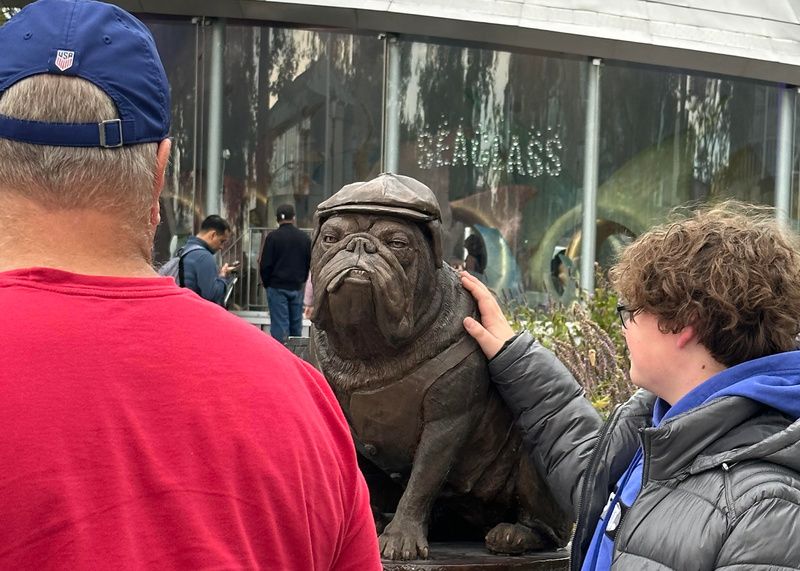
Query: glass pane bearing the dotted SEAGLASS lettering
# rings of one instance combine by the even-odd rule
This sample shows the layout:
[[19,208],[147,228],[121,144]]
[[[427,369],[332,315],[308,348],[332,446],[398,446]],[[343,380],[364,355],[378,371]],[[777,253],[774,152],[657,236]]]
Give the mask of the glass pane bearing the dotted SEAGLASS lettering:
[[398,162],[439,199],[445,257],[480,235],[490,287],[545,291],[546,230],[581,196],[585,64],[412,41],[400,54]]

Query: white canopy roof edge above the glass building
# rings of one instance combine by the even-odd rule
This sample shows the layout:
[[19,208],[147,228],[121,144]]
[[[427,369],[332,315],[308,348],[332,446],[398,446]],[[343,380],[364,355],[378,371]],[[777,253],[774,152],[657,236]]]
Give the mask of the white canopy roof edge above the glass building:
[[427,35],[800,84],[800,0],[115,1],[134,12]]

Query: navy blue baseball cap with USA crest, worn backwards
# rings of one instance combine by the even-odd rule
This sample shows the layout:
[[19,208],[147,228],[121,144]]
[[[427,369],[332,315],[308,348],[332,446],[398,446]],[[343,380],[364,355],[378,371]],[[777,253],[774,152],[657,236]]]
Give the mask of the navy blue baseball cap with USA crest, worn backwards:
[[113,148],[158,142],[169,133],[169,84],[155,41],[121,8],[94,0],[38,0],[0,27],[0,54],[0,95],[32,75],[74,76],[103,90],[119,114],[76,124],[0,115],[0,138]]

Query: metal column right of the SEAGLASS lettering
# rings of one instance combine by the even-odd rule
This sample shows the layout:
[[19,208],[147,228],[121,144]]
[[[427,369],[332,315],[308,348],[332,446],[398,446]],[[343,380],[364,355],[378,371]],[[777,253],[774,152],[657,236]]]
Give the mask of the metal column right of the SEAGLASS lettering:
[[600,66],[602,60],[589,63],[586,94],[586,138],[583,154],[583,227],[581,230],[580,286],[594,294],[594,259],[597,236],[597,169],[600,140]]

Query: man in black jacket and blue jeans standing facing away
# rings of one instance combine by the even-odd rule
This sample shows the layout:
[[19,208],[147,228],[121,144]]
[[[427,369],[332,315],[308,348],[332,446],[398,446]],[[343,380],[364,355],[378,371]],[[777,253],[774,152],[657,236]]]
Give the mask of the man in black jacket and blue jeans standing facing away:
[[261,253],[261,283],[267,288],[270,334],[286,342],[303,333],[303,285],[311,264],[311,239],[294,225],[294,207],[275,212],[278,229],[267,235]]

